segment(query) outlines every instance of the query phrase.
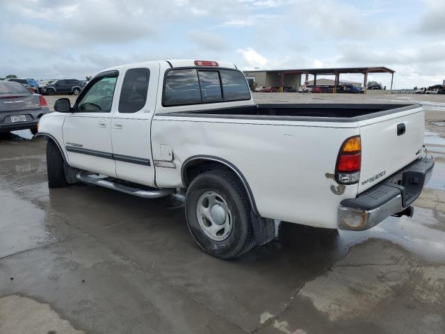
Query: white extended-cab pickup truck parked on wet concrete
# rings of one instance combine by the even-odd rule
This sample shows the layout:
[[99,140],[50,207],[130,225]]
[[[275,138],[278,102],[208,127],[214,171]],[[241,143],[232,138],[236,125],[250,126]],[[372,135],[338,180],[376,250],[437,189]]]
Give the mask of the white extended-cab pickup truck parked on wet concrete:
[[255,104],[231,63],[108,68],[54,109],[36,135],[49,187],[185,192],[191,234],[224,259],[273,239],[274,219],[365,230],[412,216],[434,166],[419,104]]

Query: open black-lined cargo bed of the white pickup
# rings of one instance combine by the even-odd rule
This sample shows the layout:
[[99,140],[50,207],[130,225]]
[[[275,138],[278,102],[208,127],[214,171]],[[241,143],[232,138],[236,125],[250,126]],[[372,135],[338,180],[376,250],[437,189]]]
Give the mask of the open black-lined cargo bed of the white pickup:
[[[177,116],[257,118],[270,120],[321,120],[355,122],[409,109],[419,104],[257,104],[232,108],[182,111]],[[180,115],[179,115],[180,114]]]

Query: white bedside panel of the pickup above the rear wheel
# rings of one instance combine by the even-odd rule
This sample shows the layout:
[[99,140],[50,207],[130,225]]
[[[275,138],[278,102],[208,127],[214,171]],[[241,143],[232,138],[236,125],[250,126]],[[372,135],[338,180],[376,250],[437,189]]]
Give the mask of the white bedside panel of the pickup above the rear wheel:
[[334,180],[343,141],[358,134],[355,122],[284,122],[156,115],[153,158],[170,145],[176,169],[156,167],[159,187],[182,187],[181,166],[195,155],[223,158],[247,180],[261,216],[323,228],[337,228],[344,198],[357,185]]

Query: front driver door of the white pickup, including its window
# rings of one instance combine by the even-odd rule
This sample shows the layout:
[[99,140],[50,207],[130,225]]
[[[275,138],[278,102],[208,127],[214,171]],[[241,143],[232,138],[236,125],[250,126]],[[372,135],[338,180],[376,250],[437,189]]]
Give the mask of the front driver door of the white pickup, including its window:
[[70,166],[116,177],[111,115],[118,79],[118,71],[97,74],[65,117],[63,141]]

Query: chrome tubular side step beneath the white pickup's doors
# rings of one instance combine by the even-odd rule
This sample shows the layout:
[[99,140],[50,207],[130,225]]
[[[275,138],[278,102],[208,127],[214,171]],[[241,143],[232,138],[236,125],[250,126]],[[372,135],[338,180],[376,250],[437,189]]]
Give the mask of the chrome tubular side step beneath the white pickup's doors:
[[[175,189],[139,189],[133,186],[113,182],[105,175],[98,175],[95,173],[79,172],[76,174],[77,180],[97,186],[104,186],[108,189],[128,193],[129,195],[138,196],[142,198],[159,198],[175,193]],[[133,184],[137,186],[137,184]]]

